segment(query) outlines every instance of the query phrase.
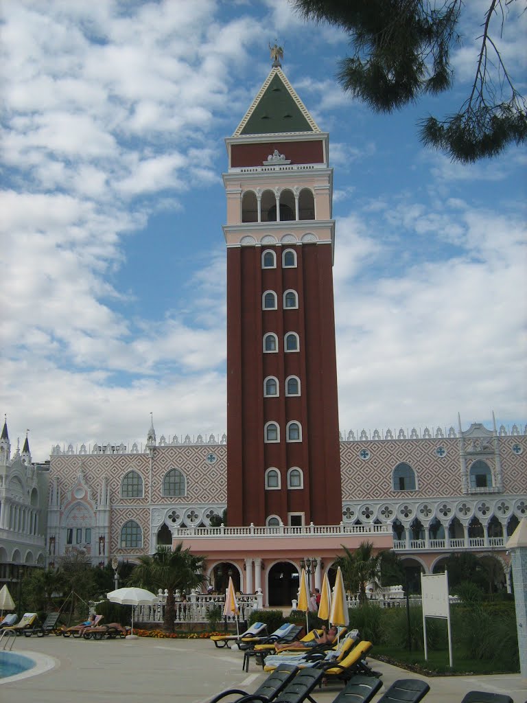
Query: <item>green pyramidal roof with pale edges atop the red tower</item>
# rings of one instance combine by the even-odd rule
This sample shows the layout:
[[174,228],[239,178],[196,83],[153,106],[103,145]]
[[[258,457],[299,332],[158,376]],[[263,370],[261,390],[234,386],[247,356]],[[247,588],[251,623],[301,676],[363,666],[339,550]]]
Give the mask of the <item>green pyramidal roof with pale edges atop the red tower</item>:
[[280,68],[273,68],[234,136],[320,132]]

